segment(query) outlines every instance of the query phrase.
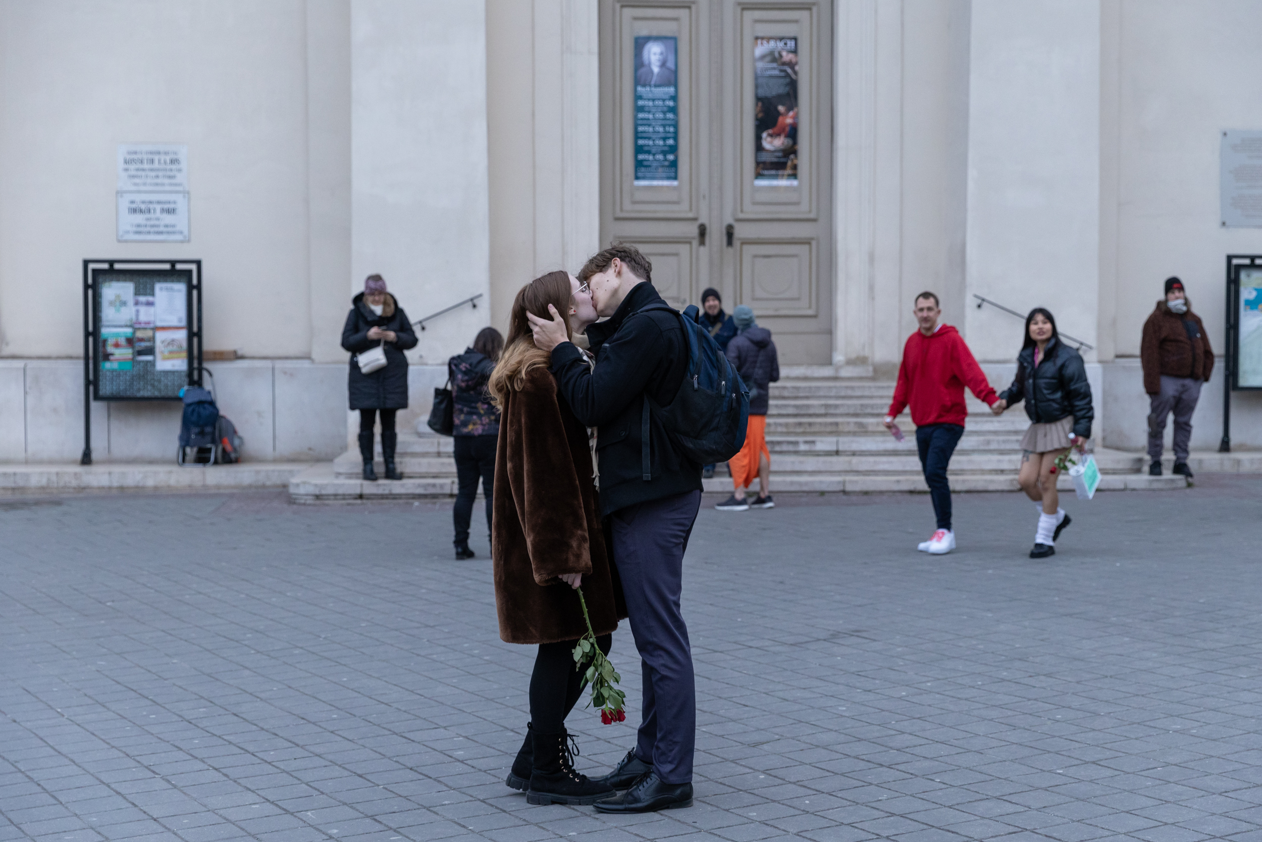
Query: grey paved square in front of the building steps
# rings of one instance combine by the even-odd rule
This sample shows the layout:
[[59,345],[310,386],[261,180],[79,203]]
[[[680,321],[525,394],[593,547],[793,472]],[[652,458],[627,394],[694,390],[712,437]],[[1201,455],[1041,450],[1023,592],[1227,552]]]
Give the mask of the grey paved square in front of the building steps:
[[[1238,524],[1258,497],[1242,476],[1070,500],[1050,564],[1023,557],[1017,495],[957,497],[940,559],[909,552],[924,497],[703,509],[684,595],[697,807],[661,817],[502,785],[533,650],[497,640],[485,544],[447,558],[449,506],[0,510],[0,812],[27,819],[0,839],[1246,842],[1262,572]],[[138,555],[136,530],[186,549]],[[408,549],[365,558],[366,531]],[[613,659],[634,718],[625,627]],[[591,711],[569,726],[591,774],[634,742]]]

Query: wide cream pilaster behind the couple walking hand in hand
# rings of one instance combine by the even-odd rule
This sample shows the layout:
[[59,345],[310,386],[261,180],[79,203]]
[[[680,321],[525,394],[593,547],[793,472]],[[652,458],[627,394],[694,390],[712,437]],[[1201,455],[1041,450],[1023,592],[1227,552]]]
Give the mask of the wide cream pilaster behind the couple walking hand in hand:
[[[970,40],[967,292],[1099,345],[1100,1],[973,0]],[[1021,347],[992,307],[964,326],[978,360]]]

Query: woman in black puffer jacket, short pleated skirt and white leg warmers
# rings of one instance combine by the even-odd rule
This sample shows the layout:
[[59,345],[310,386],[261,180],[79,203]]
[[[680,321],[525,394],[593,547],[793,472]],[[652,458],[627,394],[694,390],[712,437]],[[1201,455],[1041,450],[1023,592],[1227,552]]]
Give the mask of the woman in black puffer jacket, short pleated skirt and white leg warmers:
[[1039,529],[1030,558],[1056,552],[1055,540],[1069,525],[1056,494],[1056,460],[1070,448],[1083,451],[1092,437],[1092,386],[1078,351],[1056,333],[1056,319],[1041,307],[1026,317],[1025,346],[1017,376],[991,406],[996,415],[1025,400],[1030,428],[1021,438],[1021,489],[1039,506]]

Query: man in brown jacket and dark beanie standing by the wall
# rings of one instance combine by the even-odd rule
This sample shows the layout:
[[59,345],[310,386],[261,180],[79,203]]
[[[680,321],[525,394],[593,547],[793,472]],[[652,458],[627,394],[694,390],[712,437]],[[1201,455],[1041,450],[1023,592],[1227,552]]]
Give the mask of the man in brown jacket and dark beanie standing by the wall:
[[1166,278],[1166,298],[1143,323],[1140,343],[1143,365],[1143,390],[1151,401],[1148,413],[1148,473],[1161,476],[1161,441],[1166,415],[1175,414],[1175,473],[1191,477],[1188,444],[1191,442],[1191,414],[1200,398],[1200,384],[1214,370],[1214,351],[1209,347],[1205,326],[1191,312],[1182,282]]

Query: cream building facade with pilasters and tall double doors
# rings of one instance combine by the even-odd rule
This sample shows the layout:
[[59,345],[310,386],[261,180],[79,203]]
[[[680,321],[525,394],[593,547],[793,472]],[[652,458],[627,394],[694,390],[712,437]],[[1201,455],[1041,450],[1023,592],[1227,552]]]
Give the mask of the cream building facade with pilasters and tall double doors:
[[[482,295],[420,335],[411,423],[521,284],[613,237],[671,300],[717,287],[839,376],[892,379],[931,289],[998,384],[1021,323],[972,297],[1045,305],[1094,346],[1097,437],[1138,448],[1164,279],[1222,360],[1224,256],[1262,254],[1219,225],[1218,162],[1223,130],[1262,129],[1259,29],[1253,0],[0,0],[0,462],[78,458],[85,259],[201,259],[247,458],[328,458],[365,275],[414,319]],[[789,34],[799,186],[769,193],[752,39]],[[676,188],[632,183],[646,35],[678,44]],[[187,145],[188,242],[116,240],[125,143]],[[1194,448],[1218,444],[1222,371]],[[1233,403],[1233,442],[1262,447],[1262,399]],[[96,460],[170,458],[178,413],[93,403]]]

